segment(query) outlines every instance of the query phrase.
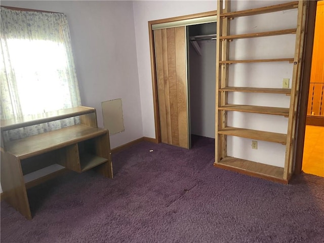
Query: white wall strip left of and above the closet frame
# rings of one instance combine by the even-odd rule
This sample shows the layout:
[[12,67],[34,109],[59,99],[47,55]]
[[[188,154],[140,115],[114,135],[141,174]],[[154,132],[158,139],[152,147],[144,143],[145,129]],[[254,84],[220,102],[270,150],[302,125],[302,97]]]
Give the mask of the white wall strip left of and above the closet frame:
[[148,21],[216,10],[216,1],[134,1],[143,136],[155,138]]

